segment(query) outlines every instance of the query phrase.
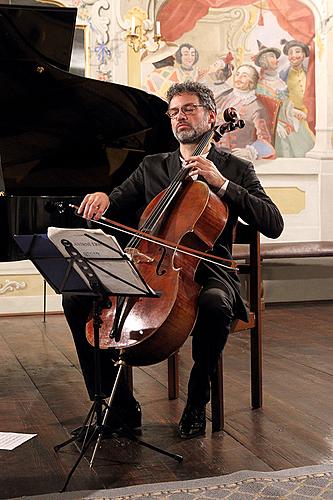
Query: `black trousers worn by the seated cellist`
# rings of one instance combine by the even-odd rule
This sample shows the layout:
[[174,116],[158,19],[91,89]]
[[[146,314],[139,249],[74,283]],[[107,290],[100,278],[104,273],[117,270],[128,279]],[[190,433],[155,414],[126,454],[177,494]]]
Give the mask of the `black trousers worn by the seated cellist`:
[[[85,325],[91,311],[89,297],[63,296],[63,308],[73,334],[78,358],[86,387],[91,399],[94,397],[94,348],[88,343]],[[234,317],[236,297],[233,288],[215,278],[206,280],[199,296],[198,319],[192,338],[193,368],[188,384],[188,402],[204,405],[210,399],[210,380],[217,369],[220,353],[225,346]],[[111,394],[117,368],[114,349],[101,349],[102,392]],[[135,403],[125,378],[121,378],[115,394],[114,404],[121,406]]]

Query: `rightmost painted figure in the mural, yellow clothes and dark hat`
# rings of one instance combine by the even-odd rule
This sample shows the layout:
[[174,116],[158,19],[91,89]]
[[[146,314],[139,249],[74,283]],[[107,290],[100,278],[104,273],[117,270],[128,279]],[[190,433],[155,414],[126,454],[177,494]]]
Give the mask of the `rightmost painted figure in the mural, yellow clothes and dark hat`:
[[[283,52],[288,56],[289,66],[280,72],[280,78],[288,88],[285,128],[276,137],[278,156],[302,157],[315,143],[315,137],[307,122],[307,108],[304,104],[306,85],[305,59],[310,50],[297,40],[281,40]],[[283,132],[283,133],[282,133]]]

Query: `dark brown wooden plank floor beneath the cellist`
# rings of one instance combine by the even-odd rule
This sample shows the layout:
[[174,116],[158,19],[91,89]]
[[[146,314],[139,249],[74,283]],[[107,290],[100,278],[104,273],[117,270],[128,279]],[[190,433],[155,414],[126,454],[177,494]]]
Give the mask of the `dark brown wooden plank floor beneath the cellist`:
[[[84,459],[68,491],[112,488],[333,461],[332,302],[275,305],[265,311],[264,408],[249,407],[247,333],[225,351],[226,427],[182,441],[190,343],[182,349],[181,398],[167,398],[166,364],[135,369],[143,409],[141,438],[184,456],[175,460],[125,439],[105,440],[93,468]],[[0,451],[0,498],[57,492],[78,452],[68,438],[90,408],[62,315],[0,318],[0,431],[37,433]]]

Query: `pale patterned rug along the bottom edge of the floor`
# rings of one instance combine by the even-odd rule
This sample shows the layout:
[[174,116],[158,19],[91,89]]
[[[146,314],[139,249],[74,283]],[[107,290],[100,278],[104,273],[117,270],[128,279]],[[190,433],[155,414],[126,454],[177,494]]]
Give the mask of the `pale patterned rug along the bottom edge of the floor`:
[[333,500],[333,463],[275,472],[240,471],[226,476],[189,481],[21,498],[33,500],[208,500],[212,498],[305,500],[323,498]]

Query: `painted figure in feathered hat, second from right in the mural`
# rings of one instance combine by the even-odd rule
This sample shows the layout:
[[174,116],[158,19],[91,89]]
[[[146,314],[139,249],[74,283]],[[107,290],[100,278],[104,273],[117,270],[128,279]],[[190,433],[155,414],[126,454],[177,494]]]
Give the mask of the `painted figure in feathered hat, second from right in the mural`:
[[288,126],[288,88],[278,74],[281,51],[276,47],[266,47],[259,40],[257,43],[259,51],[252,58],[260,67],[256,94],[268,112],[272,143],[275,144],[276,136],[284,137]]

